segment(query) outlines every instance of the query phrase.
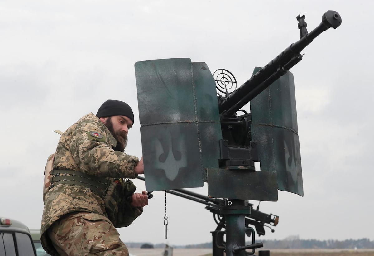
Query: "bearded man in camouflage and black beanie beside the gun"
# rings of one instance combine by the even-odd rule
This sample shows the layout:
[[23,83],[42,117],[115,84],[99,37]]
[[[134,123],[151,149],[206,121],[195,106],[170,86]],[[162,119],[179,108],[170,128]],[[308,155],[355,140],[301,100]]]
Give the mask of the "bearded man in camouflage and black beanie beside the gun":
[[134,193],[128,180],[144,173],[142,158],[123,153],[133,124],[128,104],[107,100],[61,135],[43,198],[40,235],[49,254],[129,255],[116,228],[148,204],[147,192]]

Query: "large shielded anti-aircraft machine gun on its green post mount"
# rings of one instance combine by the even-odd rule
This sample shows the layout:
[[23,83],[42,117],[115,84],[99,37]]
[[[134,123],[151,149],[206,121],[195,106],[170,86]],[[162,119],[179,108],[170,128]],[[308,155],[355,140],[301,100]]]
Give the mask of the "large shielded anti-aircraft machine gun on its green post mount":
[[[310,33],[304,18],[297,16],[300,40],[255,68],[233,92],[225,88],[218,102],[216,82],[232,82],[224,70],[214,78],[206,63],[188,58],[135,63],[145,186],[158,191],[207,182],[210,198],[227,198],[219,207],[225,231],[215,234],[216,241],[226,235],[226,243],[217,247],[227,256],[254,254],[262,247],[254,242],[254,232],[253,244],[245,245],[246,219],[254,214],[246,200],[277,201],[278,189],[304,193],[294,80],[288,70],[317,36],[337,28],[341,17],[327,11]],[[251,113],[238,115],[247,103]]]

